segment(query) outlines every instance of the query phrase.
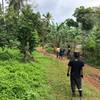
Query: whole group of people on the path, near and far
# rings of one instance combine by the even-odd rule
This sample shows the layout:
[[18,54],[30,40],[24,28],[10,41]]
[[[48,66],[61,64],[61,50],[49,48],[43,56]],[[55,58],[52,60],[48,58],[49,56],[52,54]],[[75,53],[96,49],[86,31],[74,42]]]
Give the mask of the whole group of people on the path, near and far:
[[[65,49],[57,48],[57,58],[63,59]],[[71,48],[68,46],[67,57],[71,54]],[[80,52],[73,52],[73,57],[69,60],[67,76],[70,76],[71,94],[75,96],[76,87],[78,88],[80,98],[82,95],[82,78],[84,62],[80,59]],[[81,100],[81,99],[80,99]]]

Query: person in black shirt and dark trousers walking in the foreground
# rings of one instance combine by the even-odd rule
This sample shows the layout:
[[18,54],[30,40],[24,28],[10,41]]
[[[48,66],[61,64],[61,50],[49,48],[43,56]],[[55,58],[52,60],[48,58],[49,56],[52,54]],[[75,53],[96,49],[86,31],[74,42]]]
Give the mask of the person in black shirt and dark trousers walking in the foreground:
[[72,96],[75,96],[75,87],[77,86],[80,98],[82,97],[83,66],[84,62],[80,60],[80,53],[74,52],[74,58],[68,63],[67,76],[70,74]]

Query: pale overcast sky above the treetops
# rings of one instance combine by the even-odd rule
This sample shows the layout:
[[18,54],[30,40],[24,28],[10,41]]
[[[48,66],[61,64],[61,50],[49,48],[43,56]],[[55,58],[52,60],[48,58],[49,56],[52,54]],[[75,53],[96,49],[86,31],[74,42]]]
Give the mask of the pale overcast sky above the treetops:
[[72,18],[75,8],[79,6],[100,6],[100,0],[30,0],[30,2],[31,5],[35,2],[37,5],[35,10],[40,13],[50,12],[54,22],[62,22],[67,18]]

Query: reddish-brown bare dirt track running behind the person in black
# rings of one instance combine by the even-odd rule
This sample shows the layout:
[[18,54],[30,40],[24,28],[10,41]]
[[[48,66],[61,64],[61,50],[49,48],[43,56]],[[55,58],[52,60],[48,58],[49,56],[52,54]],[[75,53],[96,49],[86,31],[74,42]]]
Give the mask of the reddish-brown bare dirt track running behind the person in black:
[[[42,48],[37,48],[37,51],[43,53],[44,55],[49,55],[52,57],[56,56],[54,54],[49,54],[47,53],[45,50],[43,50]],[[59,59],[58,59],[59,60]],[[64,59],[62,60],[64,63],[68,63],[68,60]],[[93,87],[95,87],[97,90],[100,90],[100,70],[96,69],[93,66],[90,66],[88,64],[85,64],[84,67],[84,80],[89,84],[92,85]]]

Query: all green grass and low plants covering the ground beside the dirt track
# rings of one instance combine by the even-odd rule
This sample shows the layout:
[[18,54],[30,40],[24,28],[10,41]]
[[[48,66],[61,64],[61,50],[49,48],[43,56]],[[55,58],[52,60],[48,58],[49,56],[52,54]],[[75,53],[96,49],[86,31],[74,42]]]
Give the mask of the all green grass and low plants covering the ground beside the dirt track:
[[[0,50],[0,100],[70,100],[66,65],[36,51],[33,55],[36,62],[23,63],[18,50]],[[83,83],[83,100],[100,100],[100,93]]]

